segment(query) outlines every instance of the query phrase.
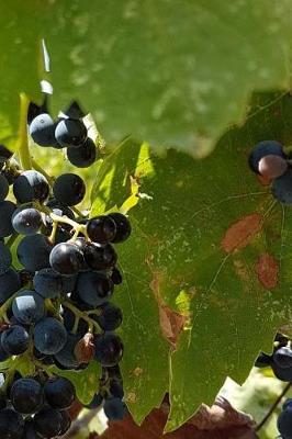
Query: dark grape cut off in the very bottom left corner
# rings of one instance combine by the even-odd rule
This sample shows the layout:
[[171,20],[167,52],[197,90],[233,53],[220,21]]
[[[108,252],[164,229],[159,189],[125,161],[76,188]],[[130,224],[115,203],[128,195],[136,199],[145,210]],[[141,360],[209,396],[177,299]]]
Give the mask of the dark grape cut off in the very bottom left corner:
[[0,437],[1,439],[21,439],[24,430],[24,420],[22,416],[4,408],[0,410]]

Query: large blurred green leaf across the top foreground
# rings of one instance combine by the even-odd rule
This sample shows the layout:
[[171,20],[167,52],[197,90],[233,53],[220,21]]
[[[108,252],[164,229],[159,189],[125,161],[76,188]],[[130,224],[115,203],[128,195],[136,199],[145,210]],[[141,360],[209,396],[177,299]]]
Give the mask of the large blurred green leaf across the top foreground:
[[291,12],[289,0],[3,3],[0,117],[15,128],[19,92],[40,102],[48,78],[55,114],[80,100],[108,142],[131,134],[204,156],[252,90],[289,89]]

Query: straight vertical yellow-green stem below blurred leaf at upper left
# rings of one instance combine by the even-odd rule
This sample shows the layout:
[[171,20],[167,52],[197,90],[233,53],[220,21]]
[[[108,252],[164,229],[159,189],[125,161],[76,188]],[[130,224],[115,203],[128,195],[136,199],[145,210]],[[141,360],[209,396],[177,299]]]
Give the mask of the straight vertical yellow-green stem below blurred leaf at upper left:
[[27,138],[27,109],[29,99],[25,93],[20,94],[20,127],[19,127],[19,157],[23,170],[32,169]]

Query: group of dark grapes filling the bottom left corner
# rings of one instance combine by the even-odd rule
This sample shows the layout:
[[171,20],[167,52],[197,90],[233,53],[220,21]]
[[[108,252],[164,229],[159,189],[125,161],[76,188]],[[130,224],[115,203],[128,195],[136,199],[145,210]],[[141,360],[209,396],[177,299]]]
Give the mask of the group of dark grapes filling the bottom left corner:
[[70,428],[68,409],[76,398],[75,386],[63,376],[18,373],[0,375],[0,437],[41,439],[63,436]]

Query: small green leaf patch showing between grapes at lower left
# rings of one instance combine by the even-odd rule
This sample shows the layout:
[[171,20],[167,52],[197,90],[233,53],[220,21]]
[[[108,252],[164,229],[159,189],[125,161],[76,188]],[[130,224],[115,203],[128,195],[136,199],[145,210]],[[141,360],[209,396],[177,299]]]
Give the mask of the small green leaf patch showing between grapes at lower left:
[[72,382],[76,395],[82,404],[87,405],[92,401],[101,378],[101,365],[97,361],[91,361],[86,369],[80,371],[66,371],[56,367],[50,371]]

